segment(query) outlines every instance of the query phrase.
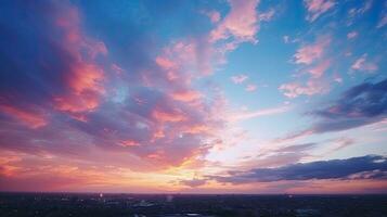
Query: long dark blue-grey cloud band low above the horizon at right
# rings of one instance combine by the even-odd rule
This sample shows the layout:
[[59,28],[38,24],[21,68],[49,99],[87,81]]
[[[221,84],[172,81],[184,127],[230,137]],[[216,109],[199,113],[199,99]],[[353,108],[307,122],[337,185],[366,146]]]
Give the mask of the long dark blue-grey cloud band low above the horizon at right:
[[[332,169],[335,168],[335,169]],[[282,180],[323,179],[386,179],[387,157],[366,155],[347,159],[330,159],[292,164],[276,168],[255,168],[248,171],[232,171],[229,176],[211,176],[218,182],[249,183]],[[373,173],[372,176],[359,174]]]

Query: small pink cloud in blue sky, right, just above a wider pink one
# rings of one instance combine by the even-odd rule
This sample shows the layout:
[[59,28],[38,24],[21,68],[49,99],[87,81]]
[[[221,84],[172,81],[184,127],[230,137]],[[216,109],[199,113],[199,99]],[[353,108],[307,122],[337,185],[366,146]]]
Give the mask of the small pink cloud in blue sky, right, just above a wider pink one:
[[294,54],[295,63],[311,64],[320,59],[327,46],[331,43],[331,37],[320,37],[314,43],[299,48]]

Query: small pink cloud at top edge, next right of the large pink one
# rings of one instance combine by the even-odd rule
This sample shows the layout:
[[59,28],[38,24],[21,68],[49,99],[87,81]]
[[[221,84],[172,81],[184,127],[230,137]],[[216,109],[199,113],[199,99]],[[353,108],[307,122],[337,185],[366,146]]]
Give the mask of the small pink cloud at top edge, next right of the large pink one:
[[336,4],[333,0],[304,0],[304,3],[308,10],[307,21],[309,22],[315,21]]

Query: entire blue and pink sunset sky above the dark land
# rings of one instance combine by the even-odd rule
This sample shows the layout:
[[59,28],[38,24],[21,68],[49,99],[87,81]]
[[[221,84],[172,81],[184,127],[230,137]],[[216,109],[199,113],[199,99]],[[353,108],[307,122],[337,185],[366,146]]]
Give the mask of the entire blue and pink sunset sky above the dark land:
[[0,191],[387,193],[387,2],[0,3]]

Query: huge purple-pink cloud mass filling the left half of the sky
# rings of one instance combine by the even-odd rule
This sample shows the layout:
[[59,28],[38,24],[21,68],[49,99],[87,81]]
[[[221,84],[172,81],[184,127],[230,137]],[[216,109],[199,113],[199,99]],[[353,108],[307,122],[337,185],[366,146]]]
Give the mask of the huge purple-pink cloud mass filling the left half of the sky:
[[222,95],[193,84],[211,69],[208,33],[164,41],[154,38],[157,22],[144,33],[138,18],[112,15],[119,4],[93,7],[0,9],[2,21],[18,24],[0,25],[8,33],[0,36],[0,148],[147,170],[204,155],[225,122]]

